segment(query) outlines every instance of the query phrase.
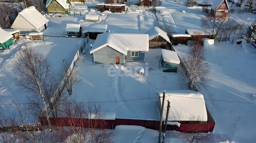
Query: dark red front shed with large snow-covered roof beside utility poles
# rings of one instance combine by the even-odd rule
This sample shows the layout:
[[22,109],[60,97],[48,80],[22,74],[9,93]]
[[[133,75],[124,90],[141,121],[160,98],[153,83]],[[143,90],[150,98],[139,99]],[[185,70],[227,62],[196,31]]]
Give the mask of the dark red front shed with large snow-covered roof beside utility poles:
[[[161,112],[163,93],[159,93],[158,109]],[[211,132],[215,121],[208,111],[203,94],[193,90],[169,90],[164,99],[163,121],[170,101],[168,129],[180,132]],[[172,126],[173,125],[173,126]]]

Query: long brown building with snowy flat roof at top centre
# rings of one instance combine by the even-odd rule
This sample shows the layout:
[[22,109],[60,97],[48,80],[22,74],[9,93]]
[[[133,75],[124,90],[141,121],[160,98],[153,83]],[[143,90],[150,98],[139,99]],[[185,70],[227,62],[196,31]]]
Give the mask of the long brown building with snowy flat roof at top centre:
[[97,10],[100,12],[108,10],[112,13],[121,13],[125,11],[125,4],[97,4]]

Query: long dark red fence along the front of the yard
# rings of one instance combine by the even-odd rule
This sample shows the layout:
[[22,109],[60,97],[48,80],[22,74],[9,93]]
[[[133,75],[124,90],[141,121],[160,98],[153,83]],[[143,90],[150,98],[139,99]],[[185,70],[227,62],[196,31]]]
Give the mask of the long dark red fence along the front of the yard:
[[[206,108],[207,109],[207,108]],[[167,130],[175,130],[179,132],[212,132],[215,126],[211,114],[207,109],[208,121],[207,122],[186,122],[180,121],[180,126],[167,125]],[[97,121],[98,124],[95,124]],[[47,126],[46,117],[40,117],[40,123],[42,126]],[[158,130],[160,127],[160,121],[155,120],[138,120],[130,118],[115,118],[114,120],[102,120],[102,119],[88,119],[88,118],[67,118],[67,117],[50,117],[50,123],[52,126],[73,126],[84,128],[97,128],[97,129],[115,129],[119,125],[133,125],[142,126],[148,129]],[[162,123],[162,128],[164,122]]]

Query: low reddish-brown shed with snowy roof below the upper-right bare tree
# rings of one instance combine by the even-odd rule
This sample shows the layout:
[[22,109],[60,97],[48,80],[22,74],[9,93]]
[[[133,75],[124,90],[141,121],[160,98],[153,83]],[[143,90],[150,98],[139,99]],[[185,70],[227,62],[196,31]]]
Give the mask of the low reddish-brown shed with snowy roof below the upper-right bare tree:
[[186,29],[186,34],[189,34],[191,37],[189,40],[200,40],[203,38],[212,38],[211,32],[204,29]]

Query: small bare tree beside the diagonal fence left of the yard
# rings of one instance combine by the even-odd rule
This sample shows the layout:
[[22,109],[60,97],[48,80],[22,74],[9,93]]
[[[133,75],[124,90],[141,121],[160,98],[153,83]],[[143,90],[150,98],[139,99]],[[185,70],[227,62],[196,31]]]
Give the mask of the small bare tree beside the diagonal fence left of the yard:
[[81,76],[79,71],[74,66],[71,68],[67,62],[67,60],[63,60],[62,67],[60,70],[60,78],[63,78],[64,85],[69,93],[69,96],[72,95],[72,86],[79,83],[81,81]]

